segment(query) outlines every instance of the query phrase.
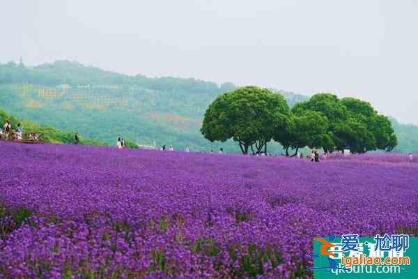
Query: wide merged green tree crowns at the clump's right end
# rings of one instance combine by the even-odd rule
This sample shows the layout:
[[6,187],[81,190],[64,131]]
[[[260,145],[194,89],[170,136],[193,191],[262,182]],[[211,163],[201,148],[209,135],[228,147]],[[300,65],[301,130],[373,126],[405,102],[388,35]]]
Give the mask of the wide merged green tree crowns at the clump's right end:
[[[322,147],[330,151],[350,149],[353,153],[364,153],[376,149],[392,151],[397,144],[389,119],[379,115],[370,103],[362,100],[355,98],[339,100],[330,93],[320,93],[312,96],[310,100],[295,105],[292,112],[296,115],[318,112],[328,122],[326,130],[317,130],[313,133],[317,136],[314,144],[307,144],[309,147]],[[312,120],[312,117],[309,116],[305,120]],[[320,121],[316,125],[314,122],[312,125],[318,128],[325,125],[325,121]],[[295,130],[300,129],[295,128]],[[299,138],[304,138],[303,133],[295,136],[295,139]]]

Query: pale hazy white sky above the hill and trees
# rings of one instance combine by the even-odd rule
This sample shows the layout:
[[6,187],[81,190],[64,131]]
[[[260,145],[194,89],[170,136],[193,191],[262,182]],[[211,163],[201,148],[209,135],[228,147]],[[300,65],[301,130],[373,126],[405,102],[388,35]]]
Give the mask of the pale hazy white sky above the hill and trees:
[[0,1],[0,63],[331,91],[418,123],[416,0]]

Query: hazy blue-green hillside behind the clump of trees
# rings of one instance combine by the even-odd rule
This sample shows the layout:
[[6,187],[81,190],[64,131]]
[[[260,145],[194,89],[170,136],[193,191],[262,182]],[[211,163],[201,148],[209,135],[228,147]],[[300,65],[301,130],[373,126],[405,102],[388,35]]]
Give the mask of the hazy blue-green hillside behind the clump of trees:
[[[226,151],[238,151],[236,144],[212,144],[199,132],[208,105],[232,89],[235,85],[231,83],[129,76],[70,61],[33,68],[15,63],[0,65],[0,107],[6,112],[108,144],[122,136],[139,144],[155,142],[175,149],[186,145],[192,150],[222,146]],[[277,92],[291,106],[309,98]],[[399,142],[402,144],[403,137],[408,138],[414,129],[418,130],[413,126],[406,134],[399,134]],[[412,145],[418,151],[418,140],[408,142],[408,150],[401,144],[397,150],[409,151]],[[281,147],[270,144],[269,151],[278,152]]]

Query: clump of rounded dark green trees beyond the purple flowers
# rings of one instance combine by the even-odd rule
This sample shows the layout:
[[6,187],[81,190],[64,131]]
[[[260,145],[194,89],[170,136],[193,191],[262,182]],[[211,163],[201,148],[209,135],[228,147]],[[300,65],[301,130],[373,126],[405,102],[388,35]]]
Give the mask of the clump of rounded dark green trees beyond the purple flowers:
[[319,93],[292,109],[277,93],[245,86],[224,93],[206,110],[201,133],[211,142],[233,139],[242,153],[267,152],[271,140],[295,153],[308,146],[332,152],[392,151],[397,144],[392,124],[370,103]]

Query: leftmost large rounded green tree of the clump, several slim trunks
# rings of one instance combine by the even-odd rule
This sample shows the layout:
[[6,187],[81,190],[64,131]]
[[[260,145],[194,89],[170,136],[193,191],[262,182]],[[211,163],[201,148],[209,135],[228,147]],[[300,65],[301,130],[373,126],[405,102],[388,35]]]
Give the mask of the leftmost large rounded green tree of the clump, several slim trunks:
[[210,142],[233,139],[242,153],[249,148],[266,151],[278,129],[290,114],[283,96],[268,89],[245,86],[224,93],[205,112],[201,133]]

